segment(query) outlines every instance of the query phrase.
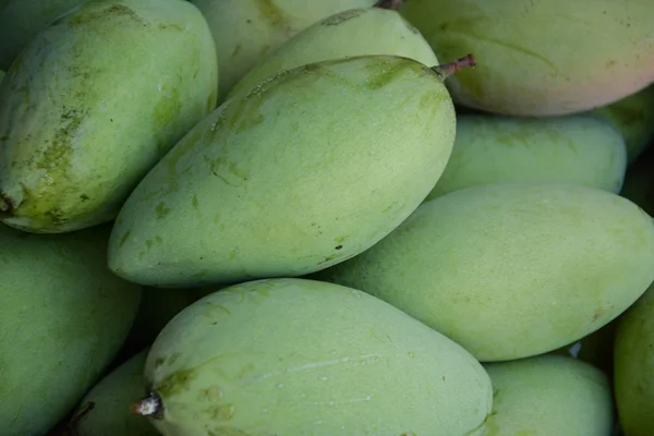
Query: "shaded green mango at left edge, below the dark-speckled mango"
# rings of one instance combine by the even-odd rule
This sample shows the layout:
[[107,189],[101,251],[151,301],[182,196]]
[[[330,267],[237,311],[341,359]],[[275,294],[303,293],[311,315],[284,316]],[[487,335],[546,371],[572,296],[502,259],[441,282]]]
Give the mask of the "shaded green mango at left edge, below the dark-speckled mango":
[[44,435],[97,382],[141,287],[107,269],[110,228],[39,235],[0,225],[0,428]]

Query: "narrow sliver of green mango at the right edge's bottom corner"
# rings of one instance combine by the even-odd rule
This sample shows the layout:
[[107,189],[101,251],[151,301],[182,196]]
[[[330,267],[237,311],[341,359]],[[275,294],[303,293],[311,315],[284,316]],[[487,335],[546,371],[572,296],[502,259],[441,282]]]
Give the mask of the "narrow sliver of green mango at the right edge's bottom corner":
[[614,351],[614,388],[625,436],[654,428],[654,283],[620,317]]

